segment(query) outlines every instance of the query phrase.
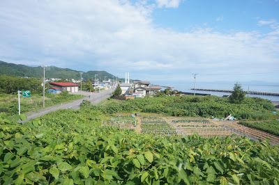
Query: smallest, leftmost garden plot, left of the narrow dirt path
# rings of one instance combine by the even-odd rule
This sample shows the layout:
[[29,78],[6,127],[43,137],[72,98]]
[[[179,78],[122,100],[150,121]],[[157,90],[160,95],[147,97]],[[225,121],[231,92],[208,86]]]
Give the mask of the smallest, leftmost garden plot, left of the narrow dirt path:
[[102,126],[108,125],[120,129],[135,129],[135,118],[132,116],[119,115],[110,120],[102,120]]

